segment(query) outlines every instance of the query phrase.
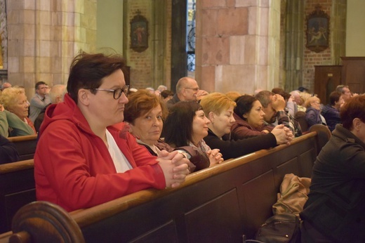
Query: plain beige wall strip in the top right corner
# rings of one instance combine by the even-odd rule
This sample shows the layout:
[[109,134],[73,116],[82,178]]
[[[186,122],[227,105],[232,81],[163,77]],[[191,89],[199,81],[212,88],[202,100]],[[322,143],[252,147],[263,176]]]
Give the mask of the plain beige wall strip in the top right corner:
[[364,10],[364,0],[347,0],[346,56],[365,56]]

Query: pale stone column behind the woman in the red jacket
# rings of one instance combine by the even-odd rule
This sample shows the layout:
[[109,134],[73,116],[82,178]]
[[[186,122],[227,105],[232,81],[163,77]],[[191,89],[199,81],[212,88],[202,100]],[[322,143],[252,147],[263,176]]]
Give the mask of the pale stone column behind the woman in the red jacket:
[[66,84],[69,65],[80,50],[95,48],[96,0],[7,1],[8,81],[24,86]]

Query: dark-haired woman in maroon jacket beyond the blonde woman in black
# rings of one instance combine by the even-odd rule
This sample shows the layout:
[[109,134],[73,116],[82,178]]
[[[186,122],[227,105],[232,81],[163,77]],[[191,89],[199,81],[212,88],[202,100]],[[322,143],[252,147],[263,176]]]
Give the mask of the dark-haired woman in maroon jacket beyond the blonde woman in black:
[[236,120],[231,127],[231,140],[270,133],[272,126],[264,125],[263,106],[253,96],[240,96],[236,100],[233,117]]

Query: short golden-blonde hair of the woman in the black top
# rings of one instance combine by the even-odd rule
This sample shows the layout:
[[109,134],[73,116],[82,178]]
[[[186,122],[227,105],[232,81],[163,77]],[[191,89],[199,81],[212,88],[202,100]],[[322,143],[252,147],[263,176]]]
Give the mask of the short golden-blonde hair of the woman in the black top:
[[206,117],[210,112],[220,114],[223,110],[227,110],[231,106],[236,107],[236,103],[225,96],[223,93],[209,93],[200,100],[200,105],[203,107]]

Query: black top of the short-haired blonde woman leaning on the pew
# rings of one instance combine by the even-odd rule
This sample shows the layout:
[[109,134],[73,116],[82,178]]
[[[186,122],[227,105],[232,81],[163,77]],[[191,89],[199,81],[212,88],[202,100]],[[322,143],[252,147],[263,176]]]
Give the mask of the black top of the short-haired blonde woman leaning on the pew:
[[236,141],[225,141],[218,138],[211,129],[208,130],[208,136],[204,138],[204,141],[212,150],[218,148],[222,157],[225,159],[241,157],[251,152],[275,147],[277,145],[277,139],[272,133]]

